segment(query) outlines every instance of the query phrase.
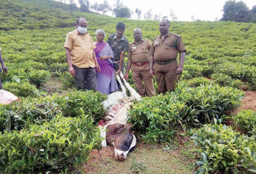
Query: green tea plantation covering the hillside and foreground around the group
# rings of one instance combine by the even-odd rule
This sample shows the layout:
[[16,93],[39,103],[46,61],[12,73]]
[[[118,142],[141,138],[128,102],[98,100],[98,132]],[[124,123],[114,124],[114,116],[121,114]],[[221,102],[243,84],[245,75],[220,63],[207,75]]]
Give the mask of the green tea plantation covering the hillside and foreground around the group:
[[[76,91],[65,61],[65,36],[78,17],[87,19],[94,40],[95,30],[114,33],[119,21],[129,42],[134,28],[146,39],[159,35],[158,21],[68,11],[51,0],[0,0],[0,48],[9,69],[0,77],[3,89],[21,98],[0,105],[0,173],[77,166],[100,148],[96,126],[106,96]],[[180,132],[191,136],[198,173],[255,173],[256,113],[230,113],[243,91],[256,90],[256,24],[171,22],[170,31],[187,48],[176,90],[134,101],[129,122],[148,144],[170,143]],[[57,93],[46,90],[53,79],[61,86]],[[131,72],[128,82],[135,87]],[[225,125],[227,119],[244,131]]]

